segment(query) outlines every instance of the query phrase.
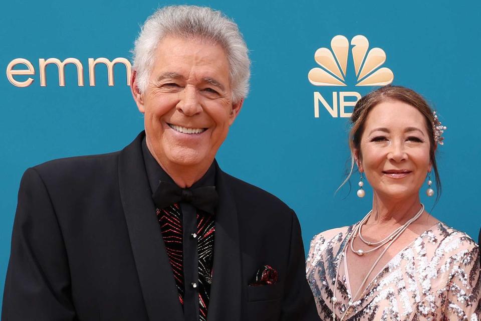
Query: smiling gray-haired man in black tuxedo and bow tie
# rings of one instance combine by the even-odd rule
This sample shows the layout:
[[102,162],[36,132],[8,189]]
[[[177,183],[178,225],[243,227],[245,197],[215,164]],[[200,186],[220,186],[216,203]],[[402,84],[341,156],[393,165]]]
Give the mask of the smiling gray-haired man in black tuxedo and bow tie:
[[26,171],[2,320],[318,320],[296,214],[214,159],[249,89],[237,25],[165,7],[133,52],[145,131]]

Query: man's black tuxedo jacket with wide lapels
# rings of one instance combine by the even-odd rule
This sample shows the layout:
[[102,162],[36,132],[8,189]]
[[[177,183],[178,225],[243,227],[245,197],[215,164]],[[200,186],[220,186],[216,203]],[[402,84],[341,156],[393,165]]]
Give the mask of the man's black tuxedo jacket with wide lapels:
[[[3,321],[183,320],[141,150],[57,159],[22,178]],[[319,320],[295,213],[217,168],[209,321]],[[249,286],[258,269],[275,285]]]

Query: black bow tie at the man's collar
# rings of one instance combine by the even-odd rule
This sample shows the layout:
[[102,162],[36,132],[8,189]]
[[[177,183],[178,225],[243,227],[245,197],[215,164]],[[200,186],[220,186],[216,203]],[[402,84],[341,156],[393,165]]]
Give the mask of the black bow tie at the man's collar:
[[160,181],[152,198],[159,209],[179,202],[185,202],[192,204],[199,210],[214,214],[219,196],[215,186],[183,189],[175,184]]

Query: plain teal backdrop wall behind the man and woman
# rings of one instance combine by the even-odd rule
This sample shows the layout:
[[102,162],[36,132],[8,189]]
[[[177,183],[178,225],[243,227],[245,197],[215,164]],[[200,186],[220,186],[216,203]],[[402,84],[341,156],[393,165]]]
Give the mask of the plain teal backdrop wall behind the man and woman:
[[[170,2],[168,4],[175,4]],[[183,2],[182,2],[183,3]],[[96,69],[89,86],[88,58],[131,59],[139,25],[158,6],[150,1],[84,0],[8,1],[0,29],[0,289],[4,287],[17,192],[24,171],[53,158],[95,154],[123,148],[143,128],[143,117],[126,85],[125,68],[115,67],[115,86],[107,85],[105,66]],[[394,84],[418,91],[438,110],[448,126],[438,150],[443,194],[422,193],[426,208],[438,219],[477,238],[478,204],[479,1],[192,1],[234,19],[252,59],[251,92],[218,152],[221,168],[281,198],[299,216],[304,246],[317,233],[356,222],[371,207],[355,189],[343,188],[348,118],[332,117],[314,93],[332,107],[332,93],[365,94],[375,87],[355,86],[349,55],[346,86],[314,86],[308,73],[319,65],[314,53],[331,48],[331,39],[365,36],[370,48],[382,48],[381,67],[394,74]],[[85,86],[77,85],[74,65],[67,65],[65,87],[55,65],[46,69],[40,86],[39,59],[77,58],[84,66]],[[7,66],[16,59],[32,62],[34,82],[14,86]],[[17,66],[16,68],[25,66]],[[15,76],[25,81],[29,76]],[[352,97],[349,98],[352,100]],[[338,108],[339,109],[339,108]],[[352,107],[346,107],[346,111]],[[402,117],[402,115],[399,115]],[[357,175],[351,180],[357,187]]]

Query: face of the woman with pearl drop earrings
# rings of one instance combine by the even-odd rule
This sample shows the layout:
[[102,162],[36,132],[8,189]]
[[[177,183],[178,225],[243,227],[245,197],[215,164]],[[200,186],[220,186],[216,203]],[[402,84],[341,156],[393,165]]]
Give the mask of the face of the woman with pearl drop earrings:
[[424,116],[407,103],[388,100],[372,108],[355,156],[376,194],[396,200],[418,195],[431,170],[428,135]]

